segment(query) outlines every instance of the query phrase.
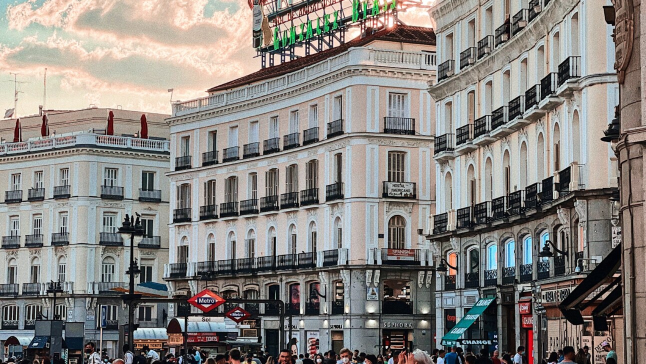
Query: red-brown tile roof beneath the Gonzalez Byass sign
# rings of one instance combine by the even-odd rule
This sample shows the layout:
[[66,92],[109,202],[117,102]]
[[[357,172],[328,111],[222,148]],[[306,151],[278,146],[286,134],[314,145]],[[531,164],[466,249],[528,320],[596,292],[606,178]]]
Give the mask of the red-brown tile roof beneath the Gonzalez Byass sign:
[[234,87],[240,87],[257,81],[267,80],[268,78],[282,76],[284,74],[295,72],[297,70],[303,69],[304,67],[323,61],[324,59],[336,56],[337,54],[341,54],[349,48],[361,47],[370,43],[371,41],[377,40],[414,43],[422,45],[435,45],[435,32],[433,32],[432,28],[411,27],[401,24],[395,25],[395,27],[379,30],[379,32],[375,32],[373,34],[370,34],[369,36],[356,37],[348,43],[339,45],[335,48],[330,48],[322,52],[310,54],[309,56],[296,58],[292,61],[281,63],[280,65],[260,69],[256,72],[253,72],[252,74],[247,74],[247,76],[242,76],[241,78],[238,78],[236,80],[222,83],[222,85],[208,89],[207,92],[233,89]]

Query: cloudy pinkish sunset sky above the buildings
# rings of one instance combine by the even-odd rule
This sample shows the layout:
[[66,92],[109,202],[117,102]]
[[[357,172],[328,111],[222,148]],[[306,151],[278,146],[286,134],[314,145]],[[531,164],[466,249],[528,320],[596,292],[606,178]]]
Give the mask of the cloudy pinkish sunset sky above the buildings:
[[[432,0],[423,0],[430,2]],[[430,26],[424,9],[409,25]],[[260,69],[247,0],[0,0],[0,118],[47,109],[171,112]],[[47,68],[47,97],[43,95]]]

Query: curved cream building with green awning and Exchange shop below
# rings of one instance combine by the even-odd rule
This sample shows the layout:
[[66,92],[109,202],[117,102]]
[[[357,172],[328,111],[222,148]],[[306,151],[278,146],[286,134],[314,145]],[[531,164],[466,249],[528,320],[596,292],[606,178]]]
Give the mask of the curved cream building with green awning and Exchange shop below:
[[[431,14],[438,198],[429,239],[448,267],[436,284],[438,343],[478,299],[495,297],[461,339],[495,341],[490,352],[524,345],[530,363],[608,339],[621,358],[621,318],[593,325],[594,294],[577,306],[583,325],[559,310],[614,248],[616,157],[599,138],[618,85],[601,4],[443,0]],[[545,246],[554,256],[539,256]]]

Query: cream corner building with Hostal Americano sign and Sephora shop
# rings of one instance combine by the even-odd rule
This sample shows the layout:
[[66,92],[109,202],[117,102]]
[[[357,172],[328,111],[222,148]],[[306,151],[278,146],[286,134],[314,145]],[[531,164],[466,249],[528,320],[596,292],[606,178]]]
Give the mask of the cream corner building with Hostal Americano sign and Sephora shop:
[[[397,25],[175,103],[172,293],[281,299],[304,354],[432,348],[434,76],[433,31]],[[289,324],[245,308],[276,354]]]

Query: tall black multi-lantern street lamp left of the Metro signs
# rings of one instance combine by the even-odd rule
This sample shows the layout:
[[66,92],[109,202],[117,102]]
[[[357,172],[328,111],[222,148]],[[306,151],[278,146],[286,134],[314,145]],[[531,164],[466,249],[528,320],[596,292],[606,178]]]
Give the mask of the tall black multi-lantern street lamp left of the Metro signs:
[[134,219],[134,216],[125,215],[123,219],[123,225],[119,228],[119,233],[121,234],[121,239],[126,241],[130,239],[130,267],[125,272],[130,277],[130,284],[128,288],[128,294],[122,295],[123,302],[128,304],[128,346],[130,350],[134,349],[134,300],[141,297],[140,294],[134,294],[134,276],[139,274],[141,271],[137,266],[137,262],[134,259],[134,242],[137,244],[143,239],[143,227],[141,226],[140,215],[137,213],[137,220]]

